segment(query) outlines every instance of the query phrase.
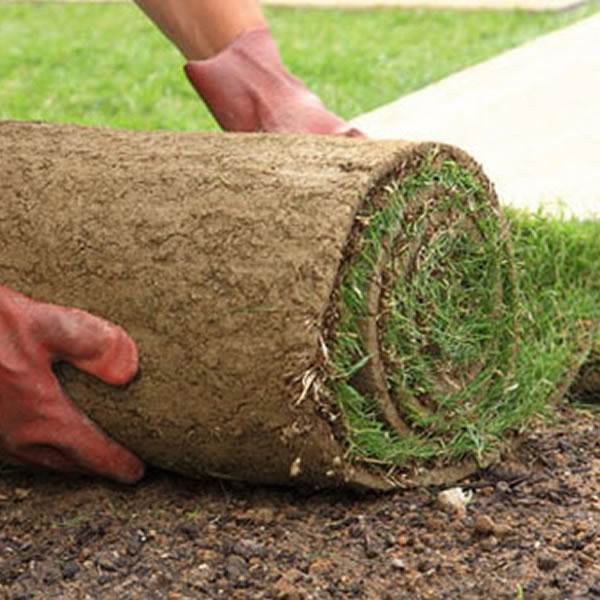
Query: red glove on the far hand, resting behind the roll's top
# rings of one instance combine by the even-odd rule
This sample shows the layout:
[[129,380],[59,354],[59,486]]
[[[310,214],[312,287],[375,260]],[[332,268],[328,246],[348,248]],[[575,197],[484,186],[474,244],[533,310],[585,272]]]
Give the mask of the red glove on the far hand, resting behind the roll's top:
[[242,34],[186,75],[225,131],[338,134],[364,137],[284,67],[269,29]]

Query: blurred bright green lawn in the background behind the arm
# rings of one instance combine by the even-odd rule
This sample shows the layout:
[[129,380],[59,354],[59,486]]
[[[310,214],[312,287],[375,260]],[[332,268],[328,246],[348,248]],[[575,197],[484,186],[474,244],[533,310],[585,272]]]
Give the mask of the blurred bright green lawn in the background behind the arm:
[[[346,118],[597,11],[267,11],[284,58]],[[127,4],[0,4],[0,118],[215,129],[178,52]]]

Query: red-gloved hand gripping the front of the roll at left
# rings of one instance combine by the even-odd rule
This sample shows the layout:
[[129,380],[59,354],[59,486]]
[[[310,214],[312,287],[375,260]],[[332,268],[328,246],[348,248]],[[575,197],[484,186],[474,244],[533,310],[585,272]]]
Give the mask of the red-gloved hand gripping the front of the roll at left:
[[119,385],[138,352],[116,325],[0,286],[0,460],[137,481],[143,463],[67,398],[52,371],[59,360]]

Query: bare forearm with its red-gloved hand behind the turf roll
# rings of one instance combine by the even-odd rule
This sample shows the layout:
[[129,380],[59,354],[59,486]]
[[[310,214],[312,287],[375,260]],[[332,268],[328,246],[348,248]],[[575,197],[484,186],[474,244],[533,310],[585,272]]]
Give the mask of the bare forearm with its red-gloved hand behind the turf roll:
[[361,136],[286,69],[258,0],[135,0],[226,131]]

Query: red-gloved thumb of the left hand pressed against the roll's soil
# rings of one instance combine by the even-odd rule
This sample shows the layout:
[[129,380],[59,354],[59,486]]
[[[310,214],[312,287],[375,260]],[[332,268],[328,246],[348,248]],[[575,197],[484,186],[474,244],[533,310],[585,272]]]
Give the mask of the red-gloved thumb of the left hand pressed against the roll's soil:
[[32,327],[53,360],[65,360],[107,383],[127,383],[138,369],[135,342],[117,325],[82,310],[37,306]]

